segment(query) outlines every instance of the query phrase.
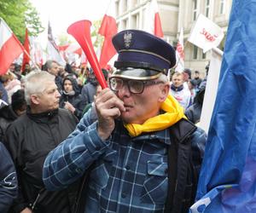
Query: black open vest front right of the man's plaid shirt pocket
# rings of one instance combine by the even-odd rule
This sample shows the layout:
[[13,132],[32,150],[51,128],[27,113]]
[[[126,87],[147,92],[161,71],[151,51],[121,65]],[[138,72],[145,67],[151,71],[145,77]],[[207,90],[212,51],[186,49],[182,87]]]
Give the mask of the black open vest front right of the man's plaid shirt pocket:
[[[190,135],[196,130],[194,124],[182,119],[170,128],[171,145],[168,148],[168,194],[165,213],[180,213],[187,209],[187,200],[191,199],[191,190],[186,187],[191,179],[191,143]],[[189,182],[188,182],[189,181]],[[189,193],[189,194],[187,194]],[[184,199],[186,197],[186,199]],[[189,205],[188,204],[188,205]]]

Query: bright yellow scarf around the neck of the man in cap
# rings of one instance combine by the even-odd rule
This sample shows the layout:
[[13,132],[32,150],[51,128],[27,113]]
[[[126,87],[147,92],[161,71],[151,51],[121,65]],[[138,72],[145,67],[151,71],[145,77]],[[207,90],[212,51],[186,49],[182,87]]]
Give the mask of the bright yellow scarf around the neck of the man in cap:
[[165,130],[176,124],[181,118],[186,118],[183,113],[183,107],[178,104],[172,95],[168,95],[160,108],[166,113],[148,118],[143,124],[124,124],[129,134],[134,137],[141,135],[143,132]]

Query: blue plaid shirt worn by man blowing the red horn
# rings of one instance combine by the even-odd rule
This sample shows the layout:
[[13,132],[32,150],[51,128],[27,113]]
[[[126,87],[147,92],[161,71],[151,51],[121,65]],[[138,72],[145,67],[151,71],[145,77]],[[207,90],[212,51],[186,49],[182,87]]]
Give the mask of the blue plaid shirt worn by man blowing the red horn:
[[102,141],[96,126],[84,116],[73,134],[49,153],[44,162],[45,186],[67,187],[96,162],[85,212],[164,212],[169,130],[131,138],[117,122],[109,140]]

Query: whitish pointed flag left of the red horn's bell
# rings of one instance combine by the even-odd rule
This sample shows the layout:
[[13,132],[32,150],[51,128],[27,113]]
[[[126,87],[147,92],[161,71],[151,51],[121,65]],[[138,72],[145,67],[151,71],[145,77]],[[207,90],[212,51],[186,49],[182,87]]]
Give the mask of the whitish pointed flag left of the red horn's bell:
[[48,23],[48,43],[47,43],[47,60],[55,60],[61,66],[65,66],[65,61],[62,59],[58,46],[52,34],[51,26]]

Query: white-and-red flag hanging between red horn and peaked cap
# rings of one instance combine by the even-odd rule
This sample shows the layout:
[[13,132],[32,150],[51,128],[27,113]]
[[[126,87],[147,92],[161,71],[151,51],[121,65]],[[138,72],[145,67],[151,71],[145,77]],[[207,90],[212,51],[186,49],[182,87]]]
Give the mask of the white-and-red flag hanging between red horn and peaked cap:
[[113,55],[116,55],[116,50],[114,49],[112,43],[112,37],[118,32],[114,9],[115,7],[113,0],[110,0],[107,13],[104,15],[102,25],[99,29],[99,34],[105,37],[100,57],[101,68],[105,68],[108,64],[108,61],[113,58]]

